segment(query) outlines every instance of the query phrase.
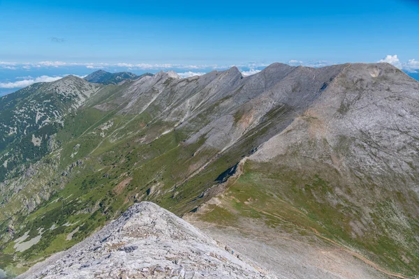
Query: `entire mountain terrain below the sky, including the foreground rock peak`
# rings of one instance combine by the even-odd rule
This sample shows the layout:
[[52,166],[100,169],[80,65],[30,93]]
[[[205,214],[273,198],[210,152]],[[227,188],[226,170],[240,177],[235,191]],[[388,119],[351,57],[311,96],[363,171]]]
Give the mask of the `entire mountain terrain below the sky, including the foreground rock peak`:
[[419,82],[398,68],[112,78],[0,98],[7,276],[418,276]]

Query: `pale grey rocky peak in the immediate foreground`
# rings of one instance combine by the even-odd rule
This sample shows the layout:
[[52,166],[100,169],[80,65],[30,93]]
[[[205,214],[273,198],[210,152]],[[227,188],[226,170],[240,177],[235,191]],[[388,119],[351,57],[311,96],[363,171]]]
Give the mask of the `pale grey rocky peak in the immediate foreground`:
[[18,278],[272,278],[152,202]]

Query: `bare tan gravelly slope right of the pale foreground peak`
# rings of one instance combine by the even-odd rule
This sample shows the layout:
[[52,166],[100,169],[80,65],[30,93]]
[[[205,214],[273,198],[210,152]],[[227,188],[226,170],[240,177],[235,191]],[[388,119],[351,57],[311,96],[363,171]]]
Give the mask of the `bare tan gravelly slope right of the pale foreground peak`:
[[250,218],[241,219],[240,226],[226,226],[207,223],[202,217],[193,213],[186,220],[277,278],[393,278],[362,262],[351,251],[314,235],[292,234]]

